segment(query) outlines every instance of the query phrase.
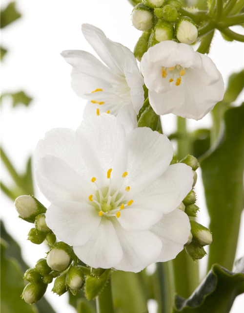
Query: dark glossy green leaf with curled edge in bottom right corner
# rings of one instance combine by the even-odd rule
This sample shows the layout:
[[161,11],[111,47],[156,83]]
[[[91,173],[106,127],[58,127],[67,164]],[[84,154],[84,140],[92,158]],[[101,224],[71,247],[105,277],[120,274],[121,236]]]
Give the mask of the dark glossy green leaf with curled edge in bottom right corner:
[[176,296],[173,313],[228,313],[235,298],[243,292],[243,273],[233,273],[214,264],[188,299]]

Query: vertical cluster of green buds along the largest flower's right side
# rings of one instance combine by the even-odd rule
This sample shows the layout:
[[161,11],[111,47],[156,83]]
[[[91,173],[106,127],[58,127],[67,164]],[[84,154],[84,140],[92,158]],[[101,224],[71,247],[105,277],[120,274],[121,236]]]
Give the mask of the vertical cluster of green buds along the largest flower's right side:
[[[171,164],[177,163],[176,156],[173,157]],[[210,245],[212,243],[212,234],[210,230],[203,225],[191,220],[192,218],[197,217],[197,212],[199,211],[199,207],[195,204],[197,201],[197,196],[194,189],[194,186],[197,182],[197,173],[196,170],[199,167],[199,163],[196,157],[194,156],[185,156],[180,163],[185,163],[190,166],[193,171],[193,185],[192,190],[188,193],[188,195],[184,198],[182,203],[178,206],[178,209],[183,210],[190,218],[191,224],[191,234],[188,238],[188,242],[185,245],[186,252],[190,255],[190,257],[195,261],[202,259],[206,252],[203,246]]]

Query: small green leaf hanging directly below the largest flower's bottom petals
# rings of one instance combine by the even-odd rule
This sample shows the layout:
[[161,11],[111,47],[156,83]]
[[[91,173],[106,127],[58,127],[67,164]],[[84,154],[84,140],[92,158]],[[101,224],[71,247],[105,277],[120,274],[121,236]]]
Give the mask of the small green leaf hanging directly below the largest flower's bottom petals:
[[85,280],[85,296],[87,300],[91,301],[98,296],[106,286],[110,278],[110,269],[106,269],[100,278],[93,276],[86,276]]

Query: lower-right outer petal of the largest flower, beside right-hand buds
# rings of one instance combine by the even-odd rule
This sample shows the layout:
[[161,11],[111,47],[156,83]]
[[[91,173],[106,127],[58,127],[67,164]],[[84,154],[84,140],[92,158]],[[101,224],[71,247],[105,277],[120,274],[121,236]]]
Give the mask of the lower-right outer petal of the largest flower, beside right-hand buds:
[[190,230],[189,218],[182,210],[176,209],[168,214],[163,214],[162,220],[151,229],[151,232],[157,235],[163,243],[156,262],[174,259],[187,243]]

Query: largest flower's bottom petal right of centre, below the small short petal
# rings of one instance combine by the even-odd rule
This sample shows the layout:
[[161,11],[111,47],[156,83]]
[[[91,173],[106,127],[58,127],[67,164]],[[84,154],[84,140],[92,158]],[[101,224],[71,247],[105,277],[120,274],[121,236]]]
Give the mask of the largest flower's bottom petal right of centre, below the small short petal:
[[162,241],[149,230],[128,231],[115,221],[115,229],[123,250],[122,261],[116,269],[140,272],[155,262],[162,249]]

